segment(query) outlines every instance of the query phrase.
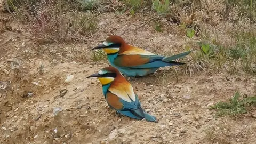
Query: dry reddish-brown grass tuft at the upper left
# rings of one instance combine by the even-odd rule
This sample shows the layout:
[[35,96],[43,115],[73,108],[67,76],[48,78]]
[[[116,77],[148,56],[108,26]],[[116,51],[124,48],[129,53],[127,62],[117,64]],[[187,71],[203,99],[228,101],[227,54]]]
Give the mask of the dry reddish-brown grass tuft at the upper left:
[[[9,0],[8,2],[12,2]],[[26,29],[38,43],[72,42],[97,31],[98,21],[90,12],[79,12],[78,3],[68,0],[24,1],[9,4],[14,18],[28,23]],[[25,21],[26,20],[26,21]]]

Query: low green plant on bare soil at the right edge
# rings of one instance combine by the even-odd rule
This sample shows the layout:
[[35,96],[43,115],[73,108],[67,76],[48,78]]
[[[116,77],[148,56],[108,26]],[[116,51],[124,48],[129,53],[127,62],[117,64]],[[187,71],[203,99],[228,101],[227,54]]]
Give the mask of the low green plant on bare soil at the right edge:
[[236,92],[229,102],[218,102],[210,109],[217,109],[218,116],[239,116],[247,113],[248,107],[252,105],[256,106],[256,96],[241,98],[239,92]]

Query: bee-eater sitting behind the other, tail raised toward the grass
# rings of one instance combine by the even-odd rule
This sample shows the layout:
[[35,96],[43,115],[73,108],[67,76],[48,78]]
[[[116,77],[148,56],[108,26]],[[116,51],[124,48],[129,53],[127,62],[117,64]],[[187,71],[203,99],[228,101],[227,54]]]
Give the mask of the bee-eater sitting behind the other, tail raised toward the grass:
[[111,66],[128,77],[143,77],[154,73],[160,67],[183,65],[174,61],[185,57],[191,51],[163,57],[139,47],[127,44],[121,36],[111,35],[102,44],[91,50],[103,49]]

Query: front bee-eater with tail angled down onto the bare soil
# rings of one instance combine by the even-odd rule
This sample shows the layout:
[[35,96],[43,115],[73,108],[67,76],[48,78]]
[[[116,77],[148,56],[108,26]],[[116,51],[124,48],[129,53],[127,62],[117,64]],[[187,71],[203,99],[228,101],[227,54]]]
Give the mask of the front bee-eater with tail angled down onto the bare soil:
[[134,119],[145,118],[149,122],[158,122],[155,116],[146,113],[141,108],[137,92],[117,68],[108,66],[86,78],[93,77],[99,79],[109,107],[115,109],[117,113]]

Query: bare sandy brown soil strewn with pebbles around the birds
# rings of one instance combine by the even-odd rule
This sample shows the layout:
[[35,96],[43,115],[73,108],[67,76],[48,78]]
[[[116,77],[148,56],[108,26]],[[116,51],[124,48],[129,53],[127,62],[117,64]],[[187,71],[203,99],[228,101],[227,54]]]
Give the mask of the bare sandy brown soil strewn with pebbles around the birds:
[[[115,21],[115,14],[99,19]],[[124,17],[87,43],[47,45],[4,31],[2,19],[0,81],[9,87],[0,95],[0,143],[256,143],[255,113],[235,119],[215,117],[209,109],[235,91],[255,93],[256,78],[246,74],[206,70],[177,79],[173,69],[162,68],[147,77],[129,78],[142,108],[158,123],[119,116],[107,106],[98,80],[85,77],[108,66],[106,60],[92,61],[89,51],[108,34],[130,27],[122,36],[129,44],[162,55],[185,51],[186,35],[177,27],[162,33],[150,25],[136,29],[142,19],[148,20]],[[74,79],[66,84],[68,74]],[[54,116],[54,108],[62,111]]]

